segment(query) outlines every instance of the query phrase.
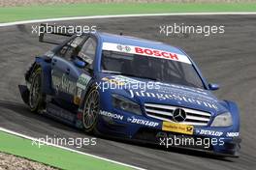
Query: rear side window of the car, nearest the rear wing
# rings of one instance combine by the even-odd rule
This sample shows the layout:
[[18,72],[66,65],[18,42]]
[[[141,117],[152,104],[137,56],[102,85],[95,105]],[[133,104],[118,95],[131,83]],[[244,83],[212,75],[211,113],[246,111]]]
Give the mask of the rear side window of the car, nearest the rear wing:
[[57,53],[58,56],[70,60],[73,56],[78,55],[79,45],[84,40],[83,36],[76,37],[67,44],[65,44]]

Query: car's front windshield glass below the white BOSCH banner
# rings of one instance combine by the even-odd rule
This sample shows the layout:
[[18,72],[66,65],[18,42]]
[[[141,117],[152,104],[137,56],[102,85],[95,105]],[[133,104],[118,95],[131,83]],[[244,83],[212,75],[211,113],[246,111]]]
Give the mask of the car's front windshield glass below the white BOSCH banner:
[[104,72],[204,88],[201,78],[191,63],[159,57],[103,50],[101,69]]

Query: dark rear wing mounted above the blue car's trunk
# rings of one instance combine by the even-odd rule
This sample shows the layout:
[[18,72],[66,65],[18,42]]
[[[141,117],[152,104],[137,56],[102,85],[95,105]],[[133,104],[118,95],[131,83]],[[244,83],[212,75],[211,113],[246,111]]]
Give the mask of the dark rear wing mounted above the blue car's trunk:
[[[51,37],[51,39],[53,39],[53,41],[46,40],[46,37],[45,37],[46,35],[48,35],[48,37]],[[54,36],[49,36],[49,35],[54,35]],[[56,36],[72,37],[73,35],[74,34],[69,33],[69,29],[65,26],[49,25],[48,23],[40,24],[39,42],[59,44],[61,42],[55,41]]]

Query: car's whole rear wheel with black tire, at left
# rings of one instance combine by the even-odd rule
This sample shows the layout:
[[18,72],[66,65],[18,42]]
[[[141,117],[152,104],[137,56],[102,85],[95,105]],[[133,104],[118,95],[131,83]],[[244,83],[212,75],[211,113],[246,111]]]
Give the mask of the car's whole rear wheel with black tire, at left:
[[30,76],[28,105],[32,112],[39,113],[45,106],[45,95],[42,93],[42,69],[37,68]]

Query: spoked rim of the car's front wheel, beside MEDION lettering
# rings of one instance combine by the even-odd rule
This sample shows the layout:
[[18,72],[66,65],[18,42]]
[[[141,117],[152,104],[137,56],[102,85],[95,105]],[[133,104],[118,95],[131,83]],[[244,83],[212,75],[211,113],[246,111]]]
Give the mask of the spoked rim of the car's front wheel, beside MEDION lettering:
[[95,89],[90,92],[83,108],[83,127],[92,128],[97,120],[99,112],[99,92]]

